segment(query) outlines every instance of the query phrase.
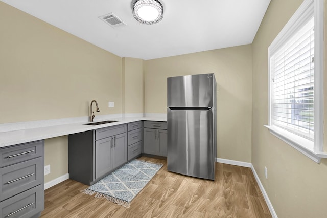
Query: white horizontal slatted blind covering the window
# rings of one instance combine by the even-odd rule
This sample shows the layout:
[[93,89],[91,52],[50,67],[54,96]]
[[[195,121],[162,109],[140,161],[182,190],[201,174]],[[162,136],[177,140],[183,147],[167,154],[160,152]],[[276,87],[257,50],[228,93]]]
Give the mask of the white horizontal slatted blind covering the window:
[[314,17],[270,56],[273,125],[314,139]]

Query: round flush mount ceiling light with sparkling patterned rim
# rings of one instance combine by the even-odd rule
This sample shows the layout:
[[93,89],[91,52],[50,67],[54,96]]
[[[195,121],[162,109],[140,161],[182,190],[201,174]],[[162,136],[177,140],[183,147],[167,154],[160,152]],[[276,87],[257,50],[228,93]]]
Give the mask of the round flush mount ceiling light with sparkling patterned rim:
[[135,0],[133,16],[142,24],[156,24],[164,17],[164,7],[157,0]]

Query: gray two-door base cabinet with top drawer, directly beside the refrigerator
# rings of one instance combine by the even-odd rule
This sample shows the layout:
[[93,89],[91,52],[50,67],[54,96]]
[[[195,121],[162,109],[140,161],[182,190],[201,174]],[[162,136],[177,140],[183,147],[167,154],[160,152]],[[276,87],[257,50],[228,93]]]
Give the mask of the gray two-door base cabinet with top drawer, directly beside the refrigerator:
[[167,157],[167,122],[144,121],[143,153]]

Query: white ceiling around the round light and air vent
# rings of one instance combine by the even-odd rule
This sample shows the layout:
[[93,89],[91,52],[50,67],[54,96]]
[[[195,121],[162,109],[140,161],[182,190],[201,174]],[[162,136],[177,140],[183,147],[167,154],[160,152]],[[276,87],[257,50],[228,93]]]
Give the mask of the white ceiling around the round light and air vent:
[[[164,18],[144,25],[133,0],[1,0],[120,57],[154,59],[252,43],[270,0],[160,0]],[[99,16],[114,13],[127,26]]]

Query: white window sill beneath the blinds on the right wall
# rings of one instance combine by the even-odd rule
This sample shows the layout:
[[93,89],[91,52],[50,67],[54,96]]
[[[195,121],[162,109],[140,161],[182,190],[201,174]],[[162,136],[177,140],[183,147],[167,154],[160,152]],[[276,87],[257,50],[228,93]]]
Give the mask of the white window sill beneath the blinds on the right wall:
[[277,138],[291,145],[293,148],[300,151],[303,155],[306,155],[316,163],[320,163],[321,158],[327,158],[327,152],[314,151],[314,146],[312,141],[297,136],[295,134],[289,133],[288,131],[276,126],[268,126],[268,125],[264,125],[264,126],[269,129],[272,135],[276,136]]

